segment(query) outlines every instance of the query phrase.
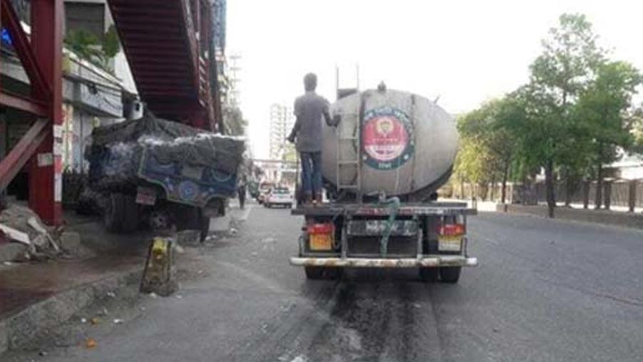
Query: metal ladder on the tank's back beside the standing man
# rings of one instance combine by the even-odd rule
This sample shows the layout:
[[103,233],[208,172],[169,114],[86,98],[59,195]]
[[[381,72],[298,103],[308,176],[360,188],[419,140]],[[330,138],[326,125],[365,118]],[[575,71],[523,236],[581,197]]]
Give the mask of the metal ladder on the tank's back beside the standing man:
[[[335,68],[336,85],[337,85],[337,99],[342,99],[345,96],[352,94],[359,94],[359,67],[356,66],[357,72],[357,86],[355,88],[339,88],[339,68]],[[337,139],[337,194],[342,194],[342,191],[352,191],[357,202],[362,203],[362,118],[363,118],[363,99],[360,97],[357,109],[355,110],[355,129],[352,134],[345,122],[340,123],[335,129],[335,138]],[[348,147],[355,148],[355,159],[344,159],[342,155],[350,154],[347,152]],[[344,170],[355,170],[355,176],[352,181],[347,182],[342,179]]]

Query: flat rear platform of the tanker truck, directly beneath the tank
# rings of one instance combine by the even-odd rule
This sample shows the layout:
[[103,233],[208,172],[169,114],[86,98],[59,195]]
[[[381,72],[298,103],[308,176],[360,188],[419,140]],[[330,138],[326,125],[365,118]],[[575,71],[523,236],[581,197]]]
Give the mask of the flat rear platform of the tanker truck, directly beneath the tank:
[[[298,206],[291,210],[296,216],[389,216],[392,208],[382,203],[321,203]],[[476,215],[477,209],[464,202],[401,203],[398,216]]]

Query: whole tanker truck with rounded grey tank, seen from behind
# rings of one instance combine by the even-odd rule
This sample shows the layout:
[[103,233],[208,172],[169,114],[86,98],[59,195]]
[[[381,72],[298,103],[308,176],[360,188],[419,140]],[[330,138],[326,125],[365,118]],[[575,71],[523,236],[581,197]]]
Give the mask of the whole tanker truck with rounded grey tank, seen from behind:
[[[340,92],[338,91],[338,94]],[[337,278],[344,268],[417,268],[422,281],[457,283],[467,254],[467,203],[439,202],[452,173],[456,122],[417,94],[356,92],[331,106],[324,124],[322,175],[329,202],[298,203],[299,253],[306,278]]]

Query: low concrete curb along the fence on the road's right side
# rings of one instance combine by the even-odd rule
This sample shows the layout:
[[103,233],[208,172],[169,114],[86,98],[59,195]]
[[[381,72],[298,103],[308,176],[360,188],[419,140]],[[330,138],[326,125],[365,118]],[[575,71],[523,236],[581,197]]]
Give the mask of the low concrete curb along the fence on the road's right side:
[[[524,206],[513,204],[498,204],[497,211],[522,215],[540,216],[547,218],[547,206]],[[643,230],[643,214],[624,213],[607,210],[585,210],[580,208],[558,207],[554,209],[554,218],[559,220],[579,221],[584,223],[599,223],[607,226],[635,228]]]

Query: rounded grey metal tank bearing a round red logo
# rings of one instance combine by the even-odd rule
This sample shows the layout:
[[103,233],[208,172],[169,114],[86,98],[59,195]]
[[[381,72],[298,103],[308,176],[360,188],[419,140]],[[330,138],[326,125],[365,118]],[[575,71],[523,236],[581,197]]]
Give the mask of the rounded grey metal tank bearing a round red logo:
[[457,152],[456,122],[433,101],[382,87],[339,99],[331,113],[341,121],[337,128],[324,124],[322,174],[336,188],[339,182],[359,185],[349,192],[384,191],[424,201],[449,179]]

